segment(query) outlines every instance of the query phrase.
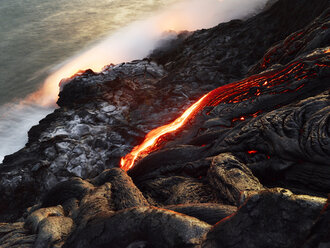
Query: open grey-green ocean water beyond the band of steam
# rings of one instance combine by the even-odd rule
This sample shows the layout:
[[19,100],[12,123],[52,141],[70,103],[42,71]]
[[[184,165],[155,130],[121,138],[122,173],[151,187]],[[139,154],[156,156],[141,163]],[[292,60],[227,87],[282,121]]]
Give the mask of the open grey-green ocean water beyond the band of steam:
[[177,0],[0,0],[0,105],[37,90],[56,64]]

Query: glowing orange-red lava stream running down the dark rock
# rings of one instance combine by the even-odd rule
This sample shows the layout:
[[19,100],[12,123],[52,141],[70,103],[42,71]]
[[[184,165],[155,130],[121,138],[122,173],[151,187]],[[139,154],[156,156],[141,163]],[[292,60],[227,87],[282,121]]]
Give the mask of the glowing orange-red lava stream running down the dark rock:
[[[321,67],[324,64],[315,65]],[[316,72],[307,67],[307,64],[303,62],[293,62],[284,69],[251,76],[245,80],[221,86],[205,94],[172,123],[150,131],[146,135],[146,138],[142,144],[134,147],[129,154],[121,158],[121,168],[126,171],[131,169],[138,160],[159,148],[159,140],[161,137],[164,137],[165,135],[183,127],[189,120],[194,118],[200,110],[207,106],[217,106],[218,104],[224,102],[239,103],[249,99],[253,101],[253,99],[259,97],[260,95],[281,94],[300,90],[305,85],[303,81],[298,86],[293,86],[291,83],[316,76]],[[276,87],[276,89],[271,89],[274,86],[279,87]],[[258,111],[251,117],[256,117],[259,113],[261,113],[261,111]],[[241,120],[244,121],[245,118],[241,117]]]

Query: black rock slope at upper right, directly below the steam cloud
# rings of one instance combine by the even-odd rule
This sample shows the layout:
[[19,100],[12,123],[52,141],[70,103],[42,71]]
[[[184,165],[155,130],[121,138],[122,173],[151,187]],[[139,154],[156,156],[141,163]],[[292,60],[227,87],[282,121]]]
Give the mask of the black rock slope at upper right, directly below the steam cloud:
[[[270,9],[246,21],[233,20],[196,31],[180,42],[176,49],[155,50],[150,58],[169,71],[164,83],[228,84],[245,77],[250,67],[274,43],[304,28],[328,7],[328,0],[318,0],[317,4],[310,0],[277,1]],[[329,15],[325,14],[321,19],[328,18]],[[309,29],[310,36],[320,32],[318,29],[322,30],[322,25],[316,24]],[[311,37],[304,38],[308,38],[306,41],[314,49],[327,46],[328,36],[322,34],[317,37],[315,40],[323,40],[319,46],[311,43]],[[288,57],[286,63],[293,58]]]

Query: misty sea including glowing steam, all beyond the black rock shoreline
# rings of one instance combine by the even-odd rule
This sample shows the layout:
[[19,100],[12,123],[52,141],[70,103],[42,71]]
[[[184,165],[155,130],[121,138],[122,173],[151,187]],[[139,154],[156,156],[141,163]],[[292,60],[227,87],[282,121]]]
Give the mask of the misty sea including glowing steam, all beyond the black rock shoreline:
[[143,58],[166,31],[209,28],[267,0],[0,0],[0,163],[78,70]]

